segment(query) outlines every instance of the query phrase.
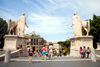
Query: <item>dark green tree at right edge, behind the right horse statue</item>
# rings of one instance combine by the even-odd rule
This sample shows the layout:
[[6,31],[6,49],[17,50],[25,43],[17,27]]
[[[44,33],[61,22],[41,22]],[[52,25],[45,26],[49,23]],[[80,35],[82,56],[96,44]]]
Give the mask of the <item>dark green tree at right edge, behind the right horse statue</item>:
[[93,38],[93,47],[97,48],[97,42],[100,42],[100,16],[93,15],[93,19],[90,20],[90,33]]

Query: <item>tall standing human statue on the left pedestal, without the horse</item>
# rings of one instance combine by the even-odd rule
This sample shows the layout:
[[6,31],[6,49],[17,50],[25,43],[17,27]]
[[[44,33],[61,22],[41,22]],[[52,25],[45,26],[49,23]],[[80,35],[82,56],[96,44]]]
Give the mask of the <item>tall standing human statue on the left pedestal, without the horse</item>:
[[[17,19],[17,35],[24,36],[25,25],[27,26],[25,14],[22,12],[22,15]],[[28,26],[27,26],[28,27]]]

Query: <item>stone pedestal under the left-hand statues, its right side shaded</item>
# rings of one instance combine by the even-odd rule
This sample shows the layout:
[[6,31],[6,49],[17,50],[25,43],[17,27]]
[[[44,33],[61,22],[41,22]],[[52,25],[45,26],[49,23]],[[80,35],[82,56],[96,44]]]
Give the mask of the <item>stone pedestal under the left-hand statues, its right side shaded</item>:
[[5,35],[4,38],[4,50],[17,50],[17,45],[22,45],[23,56],[27,56],[26,37],[20,37],[17,35]]

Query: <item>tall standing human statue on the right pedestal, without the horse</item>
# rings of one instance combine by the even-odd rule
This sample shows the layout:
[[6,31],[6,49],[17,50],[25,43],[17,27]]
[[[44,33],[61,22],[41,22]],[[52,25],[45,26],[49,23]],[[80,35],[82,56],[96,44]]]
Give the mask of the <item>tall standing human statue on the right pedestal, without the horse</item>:
[[80,16],[77,15],[77,12],[75,12],[74,16],[72,17],[72,26],[74,27],[73,37],[82,36],[82,21],[81,21]]

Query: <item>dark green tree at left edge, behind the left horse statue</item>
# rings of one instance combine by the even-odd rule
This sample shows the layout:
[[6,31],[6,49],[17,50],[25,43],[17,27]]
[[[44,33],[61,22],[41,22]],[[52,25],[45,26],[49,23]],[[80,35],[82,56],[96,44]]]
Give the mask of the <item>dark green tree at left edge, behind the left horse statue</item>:
[[0,18],[0,48],[4,46],[3,36],[7,33],[7,22]]

